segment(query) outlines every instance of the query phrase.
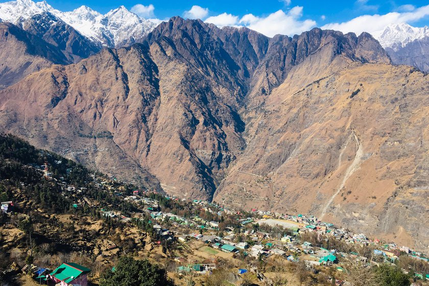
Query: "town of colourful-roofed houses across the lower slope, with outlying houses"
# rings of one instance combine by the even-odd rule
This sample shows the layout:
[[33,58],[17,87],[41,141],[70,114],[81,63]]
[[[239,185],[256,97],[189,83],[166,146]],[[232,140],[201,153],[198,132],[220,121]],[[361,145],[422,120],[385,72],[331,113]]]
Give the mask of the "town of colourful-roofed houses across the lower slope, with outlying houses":
[[[33,168],[42,171],[48,179],[55,180],[45,171],[45,166]],[[135,189],[126,194],[123,187],[117,187],[114,177],[106,179],[91,174],[91,178],[97,187],[111,192],[119,200],[131,203],[140,211],[125,213],[115,209],[114,205],[109,209],[100,208],[98,201],[82,195],[84,187],[68,185],[64,178],[60,177],[63,195],[74,202],[71,207],[76,210],[84,207],[97,209],[102,217],[124,224],[138,225],[140,221],[146,220],[153,230],[153,237],[156,237],[155,244],[174,242],[195,252],[192,258],[174,257],[178,265],[174,271],[179,275],[190,271],[197,275],[209,275],[217,268],[217,260],[220,257],[246,259],[249,261],[248,267],[237,265],[236,274],[240,276],[254,272],[257,273],[258,280],[265,283],[270,283],[271,280],[258,270],[252,260],[264,261],[270,257],[281,257],[293,263],[303,261],[308,270],[335,267],[338,272],[344,271],[342,263],[349,260],[365,264],[395,263],[399,257],[408,256],[429,263],[425,254],[407,246],[371,239],[363,233],[337,228],[314,216],[257,209],[246,212],[203,200],[179,199],[148,190]],[[199,214],[179,214],[177,209],[169,208],[172,205],[188,205]],[[2,202],[1,206],[2,212],[13,213],[13,201]],[[120,248],[113,242],[109,242],[107,251],[114,255],[121,253]],[[196,260],[198,256],[199,261]],[[85,266],[73,262],[64,263],[54,270],[26,265],[20,271],[28,269],[34,273],[36,281],[47,284],[49,281],[55,281],[61,282],[62,285],[75,285],[77,279],[80,279],[80,285],[86,285],[86,274],[90,272]],[[58,269],[62,269],[61,274],[57,274]],[[403,271],[408,273],[410,269]],[[417,281],[429,280],[429,273],[413,271],[413,275]],[[347,285],[347,281],[336,280],[336,284]]]

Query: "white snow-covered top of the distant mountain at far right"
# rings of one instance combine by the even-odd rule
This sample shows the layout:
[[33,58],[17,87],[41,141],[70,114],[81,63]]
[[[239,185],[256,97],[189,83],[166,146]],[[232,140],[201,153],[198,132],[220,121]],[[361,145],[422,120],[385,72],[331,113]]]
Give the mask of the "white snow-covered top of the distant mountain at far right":
[[383,47],[390,47],[397,51],[412,41],[429,37],[429,27],[416,28],[407,23],[395,23],[372,35]]

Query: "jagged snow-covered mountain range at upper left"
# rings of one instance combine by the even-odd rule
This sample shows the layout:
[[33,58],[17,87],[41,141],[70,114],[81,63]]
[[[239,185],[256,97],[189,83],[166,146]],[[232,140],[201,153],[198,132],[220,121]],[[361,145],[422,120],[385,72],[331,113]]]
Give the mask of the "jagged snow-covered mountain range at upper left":
[[102,15],[87,6],[61,12],[45,1],[35,3],[31,0],[16,0],[0,3],[0,18],[16,25],[43,12],[52,13],[97,45],[108,47],[121,47],[138,42],[156,26],[155,23],[128,11],[124,6]]

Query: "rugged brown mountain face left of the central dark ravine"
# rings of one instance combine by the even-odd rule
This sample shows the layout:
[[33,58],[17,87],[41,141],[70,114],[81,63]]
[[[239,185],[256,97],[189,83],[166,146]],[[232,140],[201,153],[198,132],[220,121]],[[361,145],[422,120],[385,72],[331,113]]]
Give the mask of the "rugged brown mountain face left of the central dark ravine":
[[231,97],[241,84],[231,75],[235,65],[221,58],[217,68],[205,68],[214,59],[204,58],[208,51],[224,53],[216,41],[192,58],[197,66],[185,58],[198,52],[194,43],[183,39],[159,36],[150,47],[103,50],[77,65],[33,74],[5,90],[3,122],[38,146],[88,152],[67,155],[110,174],[139,180],[149,170],[173,192],[186,188],[189,196],[209,198],[243,145],[235,111],[243,94]]

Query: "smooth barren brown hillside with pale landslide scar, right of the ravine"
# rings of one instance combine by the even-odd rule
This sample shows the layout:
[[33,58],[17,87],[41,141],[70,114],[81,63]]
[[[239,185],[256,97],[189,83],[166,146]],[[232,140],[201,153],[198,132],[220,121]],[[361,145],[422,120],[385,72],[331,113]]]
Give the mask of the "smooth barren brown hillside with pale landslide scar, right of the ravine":
[[297,68],[273,90],[214,200],[313,213],[425,248],[427,76],[388,64],[326,71],[305,86]]

